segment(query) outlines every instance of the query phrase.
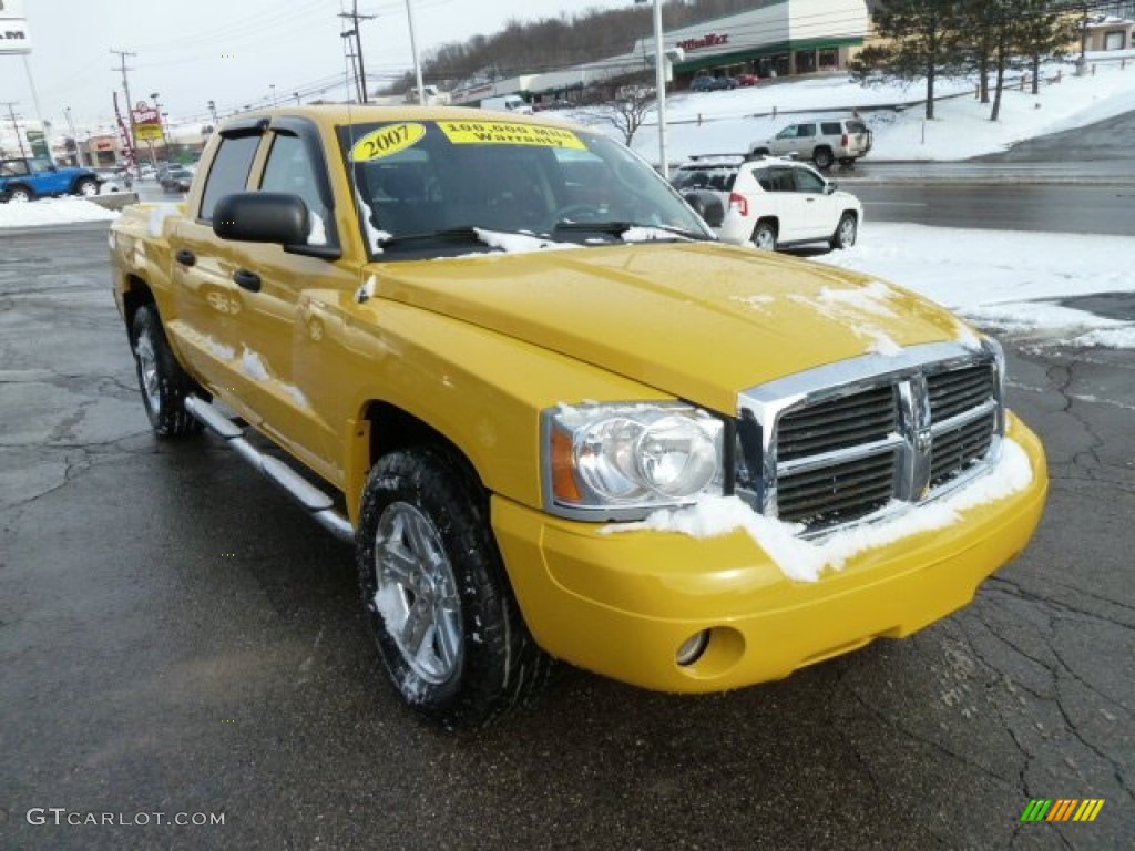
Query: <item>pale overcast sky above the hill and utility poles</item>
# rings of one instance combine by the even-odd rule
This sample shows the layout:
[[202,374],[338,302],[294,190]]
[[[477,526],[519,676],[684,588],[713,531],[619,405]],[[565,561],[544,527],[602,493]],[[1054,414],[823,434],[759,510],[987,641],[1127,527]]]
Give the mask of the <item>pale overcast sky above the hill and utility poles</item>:
[[[512,18],[532,20],[586,9],[631,6],[633,0],[412,0],[419,50],[490,34]],[[351,0],[25,0],[33,51],[28,57],[43,117],[65,127],[70,107],[92,129],[114,116],[111,93],[121,89],[119,58],[127,58],[131,95],[158,92],[170,118],[204,119],[209,100],[224,115],[263,106],[272,94],[342,84],[347,27],[337,16]],[[367,75],[397,75],[412,67],[405,0],[359,0]],[[377,82],[372,82],[373,91]],[[343,90],[328,96],[342,96]],[[314,96],[314,95],[311,95]],[[294,99],[292,99],[294,101]],[[18,56],[0,56],[0,101],[35,118]]]

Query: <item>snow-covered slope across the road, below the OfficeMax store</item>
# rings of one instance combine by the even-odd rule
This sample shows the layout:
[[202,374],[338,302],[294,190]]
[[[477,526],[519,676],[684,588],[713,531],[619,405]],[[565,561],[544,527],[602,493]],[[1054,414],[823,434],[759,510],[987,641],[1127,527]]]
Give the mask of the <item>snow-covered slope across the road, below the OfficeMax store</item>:
[[[1070,65],[1042,70],[1040,94],[1020,91],[1014,77],[1003,94],[1001,118],[990,121],[991,104],[974,96],[973,79],[943,79],[935,94],[935,119],[924,120],[925,85],[889,83],[860,86],[843,75],[793,82],[765,82],[728,92],[678,92],[666,99],[667,160],[692,154],[745,153],[793,121],[848,116],[860,110],[875,134],[869,158],[886,160],[961,160],[1003,151],[1034,136],[1102,121],[1135,110],[1135,59],[1126,66],[1100,61],[1095,74],[1076,77]],[[1054,82],[1059,74],[1060,82]],[[900,109],[880,109],[897,106]],[[775,117],[773,111],[775,110]],[[594,123],[585,111],[563,113]],[[653,117],[648,120],[654,121]],[[613,128],[604,128],[614,133]],[[644,126],[631,145],[650,162],[658,160],[658,134]]]

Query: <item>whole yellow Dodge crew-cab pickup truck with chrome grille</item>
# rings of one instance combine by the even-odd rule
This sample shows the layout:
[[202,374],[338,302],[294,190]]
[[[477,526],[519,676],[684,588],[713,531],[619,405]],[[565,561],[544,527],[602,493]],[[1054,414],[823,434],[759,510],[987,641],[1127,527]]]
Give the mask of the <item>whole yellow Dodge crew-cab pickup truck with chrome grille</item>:
[[711,692],[909,635],[1043,509],[994,340],[717,242],[583,127],[252,112],[109,239],[157,437],[207,427],[352,544],[389,680],[447,728],[554,659]]

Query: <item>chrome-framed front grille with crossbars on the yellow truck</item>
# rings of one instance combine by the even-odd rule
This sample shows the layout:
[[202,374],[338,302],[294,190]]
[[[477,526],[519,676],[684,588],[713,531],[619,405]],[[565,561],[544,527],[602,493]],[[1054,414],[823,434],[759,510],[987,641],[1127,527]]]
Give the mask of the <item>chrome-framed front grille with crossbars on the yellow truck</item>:
[[809,530],[933,499],[997,455],[1001,363],[995,344],[930,344],[747,390],[738,491]]

